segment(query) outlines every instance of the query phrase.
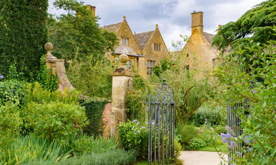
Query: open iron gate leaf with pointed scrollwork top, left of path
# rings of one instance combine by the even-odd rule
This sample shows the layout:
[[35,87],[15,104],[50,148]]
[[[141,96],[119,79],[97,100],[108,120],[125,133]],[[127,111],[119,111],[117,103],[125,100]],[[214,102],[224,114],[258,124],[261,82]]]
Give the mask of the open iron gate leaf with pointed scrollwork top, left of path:
[[175,153],[175,100],[165,75],[155,92],[144,102],[145,107],[148,105],[148,164],[168,164],[172,163]]

